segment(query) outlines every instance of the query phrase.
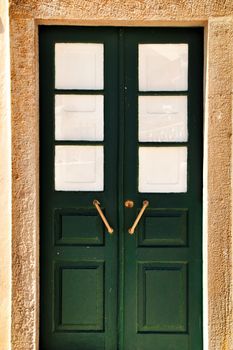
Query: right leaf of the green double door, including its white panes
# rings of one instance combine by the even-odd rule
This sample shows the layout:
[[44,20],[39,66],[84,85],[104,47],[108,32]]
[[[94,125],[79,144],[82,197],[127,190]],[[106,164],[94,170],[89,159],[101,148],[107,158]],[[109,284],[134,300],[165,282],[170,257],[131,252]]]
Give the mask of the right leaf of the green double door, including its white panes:
[[[169,59],[171,45],[188,48],[184,90],[167,85],[168,66],[177,67],[175,56]],[[153,67],[151,57],[157,49],[162,54]],[[161,80],[158,66],[162,67],[166,88],[145,73],[145,62]],[[124,212],[127,350],[202,349],[202,66],[201,28],[129,28],[125,33],[125,135],[130,141],[124,152],[124,188],[125,199],[135,203]],[[167,122],[172,117],[163,111],[171,108],[166,105],[170,97],[174,101],[180,96],[187,101],[187,134],[176,139]],[[160,132],[165,123],[166,132]],[[134,235],[129,235],[144,200],[149,206]]]

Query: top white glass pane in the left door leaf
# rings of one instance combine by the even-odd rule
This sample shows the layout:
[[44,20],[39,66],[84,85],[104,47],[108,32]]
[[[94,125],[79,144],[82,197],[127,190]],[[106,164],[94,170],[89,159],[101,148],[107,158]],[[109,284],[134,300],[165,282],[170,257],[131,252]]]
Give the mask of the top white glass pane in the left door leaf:
[[57,89],[103,89],[103,44],[56,44]]

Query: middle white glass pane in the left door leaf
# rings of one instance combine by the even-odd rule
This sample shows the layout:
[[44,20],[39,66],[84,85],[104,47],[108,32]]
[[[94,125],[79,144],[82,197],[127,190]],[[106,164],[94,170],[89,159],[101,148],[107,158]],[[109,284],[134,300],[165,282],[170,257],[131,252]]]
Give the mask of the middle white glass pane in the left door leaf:
[[56,95],[56,140],[104,139],[103,96]]

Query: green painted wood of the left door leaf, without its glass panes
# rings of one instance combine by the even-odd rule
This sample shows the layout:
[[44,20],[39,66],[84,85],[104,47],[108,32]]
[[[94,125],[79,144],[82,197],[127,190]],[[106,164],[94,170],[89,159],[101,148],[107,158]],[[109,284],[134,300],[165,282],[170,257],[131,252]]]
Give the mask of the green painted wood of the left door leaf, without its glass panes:
[[[56,42],[104,43],[103,192],[54,191]],[[41,350],[117,349],[118,235],[103,229],[92,204],[99,200],[117,232],[117,42],[116,29],[40,27]]]

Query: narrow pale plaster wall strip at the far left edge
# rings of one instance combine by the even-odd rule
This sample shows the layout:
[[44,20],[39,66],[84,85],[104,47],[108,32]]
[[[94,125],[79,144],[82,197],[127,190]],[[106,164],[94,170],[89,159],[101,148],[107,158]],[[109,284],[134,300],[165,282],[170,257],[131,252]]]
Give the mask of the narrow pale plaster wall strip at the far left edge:
[[11,121],[8,2],[0,1],[0,350],[11,330]]

